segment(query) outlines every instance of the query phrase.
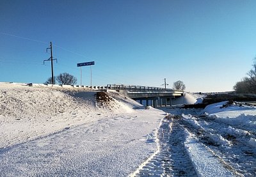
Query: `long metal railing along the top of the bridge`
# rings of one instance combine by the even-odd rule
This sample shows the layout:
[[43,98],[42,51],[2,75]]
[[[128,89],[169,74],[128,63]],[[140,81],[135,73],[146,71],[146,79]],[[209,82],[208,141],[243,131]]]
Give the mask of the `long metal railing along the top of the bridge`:
[[168,88],[156,88],[156,87],[147,87],[147,86],[132,86],[124,84],[108,84],[107,89],[116,89],[116,90],[128,90],[128,91],[174,91],[173,89]]

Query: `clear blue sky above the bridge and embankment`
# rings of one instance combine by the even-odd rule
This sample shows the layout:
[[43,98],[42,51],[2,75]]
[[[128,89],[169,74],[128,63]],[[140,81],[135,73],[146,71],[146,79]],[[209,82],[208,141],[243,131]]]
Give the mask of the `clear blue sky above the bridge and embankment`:
[[[42,83],[53,44],[54,75],[93,85],[230,91],[256,56],[256,1],[0,0],[0,82]],[[90,66],[83,84],[90,85]]]

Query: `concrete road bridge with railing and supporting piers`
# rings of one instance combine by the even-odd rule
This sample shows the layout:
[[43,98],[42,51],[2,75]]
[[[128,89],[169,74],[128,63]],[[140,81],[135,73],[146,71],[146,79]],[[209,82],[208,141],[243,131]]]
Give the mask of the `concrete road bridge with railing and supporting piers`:
[[173,99],[184,96],[184,91],[124,84],[108,84],[106,89],[114,89],[140,102],[140,104],[151,105],[152,107],[172,106]]

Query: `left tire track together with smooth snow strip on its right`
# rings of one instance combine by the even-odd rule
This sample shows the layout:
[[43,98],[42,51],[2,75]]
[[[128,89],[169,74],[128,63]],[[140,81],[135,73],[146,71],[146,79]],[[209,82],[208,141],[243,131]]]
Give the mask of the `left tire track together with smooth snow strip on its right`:
[[158,130],[159,150],[131,176],[239,176],[188,132],[181,116],[164,119]]

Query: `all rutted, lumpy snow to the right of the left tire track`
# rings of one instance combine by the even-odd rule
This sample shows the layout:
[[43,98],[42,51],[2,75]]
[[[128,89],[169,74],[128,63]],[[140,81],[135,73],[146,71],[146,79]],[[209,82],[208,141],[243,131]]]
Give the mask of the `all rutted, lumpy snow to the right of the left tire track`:
[[163,109],[179,115],[172,123],[182,127],[180,141],[198,176],[256,176],[256,107],[227,103]]

